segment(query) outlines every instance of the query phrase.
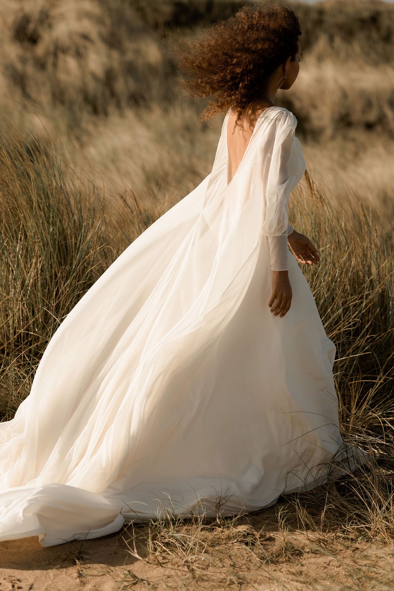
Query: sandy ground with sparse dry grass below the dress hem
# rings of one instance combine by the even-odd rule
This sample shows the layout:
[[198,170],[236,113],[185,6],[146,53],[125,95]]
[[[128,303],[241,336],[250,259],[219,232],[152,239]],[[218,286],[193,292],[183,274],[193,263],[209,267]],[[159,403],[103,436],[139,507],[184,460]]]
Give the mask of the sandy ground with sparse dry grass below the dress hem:
[[[149,551],[148,529],[140,526],[139,558],[131,554],[127,528],[49,548],[41,547],[38,537],[5,541],[0,543],[0,591],[394,589],[392,546],[350,540],[338,532],[278,527],[262,532],[265,517],[243,519],[230,532],[220,525],[200,531],[199,548],[193,551],[175,546],[170,537],[158,538],[155,552]],[[187,539],[187,529],[178,534]]]

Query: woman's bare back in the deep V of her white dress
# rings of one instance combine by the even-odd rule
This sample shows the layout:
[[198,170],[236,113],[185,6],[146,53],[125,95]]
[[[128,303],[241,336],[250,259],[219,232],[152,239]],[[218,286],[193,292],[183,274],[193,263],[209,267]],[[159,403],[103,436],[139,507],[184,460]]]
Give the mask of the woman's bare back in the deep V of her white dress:
[[258,125],[263,113],[269,109],[275,108],[276,105],[266,107],[256,118],[253,128],[248,126],[246,129],[243,125],[236,124],[236,117],[229,112],[227,117],[226,128],[226,142],[227,142],[227,184],[230,184],[235,174],[245,157],[246,150],[250,144],[255,128]]

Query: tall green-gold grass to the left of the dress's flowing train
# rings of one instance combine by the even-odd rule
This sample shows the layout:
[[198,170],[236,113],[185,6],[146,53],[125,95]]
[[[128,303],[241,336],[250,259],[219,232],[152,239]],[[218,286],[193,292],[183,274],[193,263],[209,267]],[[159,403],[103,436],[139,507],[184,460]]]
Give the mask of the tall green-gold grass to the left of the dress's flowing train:
[[136,199],[126,193],[108,203],[102,188],[70,170],[57,145],[18,135],[15,128],[1,135],[2,417],[10,418],[28,394],[34,369],[66,314],[162,213],[153,197],[149,209]]

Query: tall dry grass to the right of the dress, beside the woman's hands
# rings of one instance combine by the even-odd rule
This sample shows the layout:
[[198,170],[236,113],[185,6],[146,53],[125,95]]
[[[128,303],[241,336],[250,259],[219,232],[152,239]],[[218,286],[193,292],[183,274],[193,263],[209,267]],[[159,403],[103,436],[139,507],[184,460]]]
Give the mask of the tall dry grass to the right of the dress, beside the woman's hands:
[[[336,343],[334,375],[341,422],[362,440],[377,437],[390,457],[394,443],[393,233],[357,196],[351,213],[327,200],[305,173],[292,200],[295,228],[312,237],[321,263],[307,269],[327,335]],[[384,437],[383,437],[384,433]],[[382,439],[383,437],[383,439]]]

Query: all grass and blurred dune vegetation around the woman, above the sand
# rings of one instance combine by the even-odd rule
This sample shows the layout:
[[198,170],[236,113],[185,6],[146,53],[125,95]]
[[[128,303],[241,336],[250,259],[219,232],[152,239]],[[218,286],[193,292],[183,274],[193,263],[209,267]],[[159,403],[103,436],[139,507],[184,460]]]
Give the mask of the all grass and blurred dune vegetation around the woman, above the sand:
[[[223,117],[203,123],[204,102],[180,96],[167,42],[243,4],[1,1],[0,418],[28,395],[48,340],[82,294],[210,172]],[[320,248],[321,264],[302,271],[337,345],[344,437],[377,454],[348,488],[331,483],[308,506],[301,496],[288,515],[302,505],[305,527],[335,523],[349,540],[388,541],[394,5],[286,4],[299,15],[302,62],[277,102],[297,116],[307,161],[291,222]]]

